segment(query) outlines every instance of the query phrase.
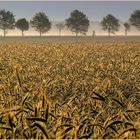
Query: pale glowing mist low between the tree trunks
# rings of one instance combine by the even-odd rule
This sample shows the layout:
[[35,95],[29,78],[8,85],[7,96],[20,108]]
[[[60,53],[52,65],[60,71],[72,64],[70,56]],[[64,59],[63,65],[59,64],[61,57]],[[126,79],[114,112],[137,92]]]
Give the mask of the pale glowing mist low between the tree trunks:
[[[47,36],[50,36],[50,35],[51,36],[53,36],[53,35],[54,36],[57,36],[57,35],[59,35],[58,34],[58,29],[56,28],[56,24],[57,23],[60,23],[60,22],[65,24],[64,21],[52,21],[52,28],[47,33],[45,33],[43,35],[45,35],[45,36],[46,35]],[[120,26],[120,30],[114,34],[115,36],[118,36],[118,35],[121,35],[122,36],[122,35],[124,35],[125,28],[123,26],[123,23],[124,23],[123,21],[120,21],[120,25],[121,25]],[[103,36],[107,36],[108,35],[106,31],[103,31],[102,30],[102,27],[101,27],[99,21],[91,21],[90,22],[90,26],[89,26],[87,35],[88,36],[92,35],[93,30],[95,30],[97,36],[98,35],[99,36],[102,36],[102,35]],[[1,36],[3,35],[3,32],[2,31],[0,31],[0,35]],[[24,35],[27,35],[27,36],[38,36],[39,34],[32,27],[30,27],[30,29],[28,31],[24,32]],[[62,36],[74,35],[75,36],[75,34],[72,33],[70,30],[68,30],[67,27],[65,27],[62,30],[61,35]],[[132,35],[140,35],[140,31],[138,31],[135,27],[131,26],[131,30],[128,32],[128,36],[129,35],[131,35],[131,36]],[[18,29],[10,30],[10,31],[8,31],[7,36],[21,36],[21,31],[18,30]]]

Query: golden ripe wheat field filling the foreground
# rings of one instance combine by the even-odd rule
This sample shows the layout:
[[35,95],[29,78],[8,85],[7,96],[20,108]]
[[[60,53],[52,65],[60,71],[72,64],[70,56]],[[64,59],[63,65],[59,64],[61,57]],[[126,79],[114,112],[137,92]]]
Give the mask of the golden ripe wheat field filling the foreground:
[[140,138],[140,43],[0,45],[0,139]]

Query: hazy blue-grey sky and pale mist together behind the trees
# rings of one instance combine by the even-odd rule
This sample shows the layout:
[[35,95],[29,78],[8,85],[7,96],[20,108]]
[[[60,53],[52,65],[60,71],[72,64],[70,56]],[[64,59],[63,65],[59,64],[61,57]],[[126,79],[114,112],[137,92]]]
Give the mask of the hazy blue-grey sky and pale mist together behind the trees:
[[[58,29],[55,24],[64,22],[70,16],[70,12],[78,9],[82,11],[90,20],[90,27],[87,35],[92,35],[93,30],[96,35],[108,35],[107,32],[102,30],[100,21],[107,14],[112,14],[120,20],[120,31],[115,35],[124,35],[123,23],[128,21],[131,13],[135,9],[140,9],[140,1],[0,1],[0,9],[12,11],[15,19],[26,18],[31,20],[33,15],[37,12],[45,12],[52,21],[52,29],[43,35],[58,35]],[[131,26],[131,31],[128,35],[139,35],[135,27]],[[0,35],[3,31],[0,30]],[[19,36],[20,30],[9,30],[7,36]],[[30,28],[29,31],[24,32],[24,35],[37,36],[39,33]],[[62,30],[62,35],[75,35],[67,28]]]

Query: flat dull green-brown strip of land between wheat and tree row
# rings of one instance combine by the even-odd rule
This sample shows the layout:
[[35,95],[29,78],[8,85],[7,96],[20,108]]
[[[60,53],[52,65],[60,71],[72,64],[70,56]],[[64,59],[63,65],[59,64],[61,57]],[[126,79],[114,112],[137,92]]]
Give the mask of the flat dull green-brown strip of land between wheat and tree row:
[[25,37],[14,37],[7,36],[6,38],[0,37],[0,44],[2,43],[75,43],[75,42],[140,42],[140,36],[25,36]]

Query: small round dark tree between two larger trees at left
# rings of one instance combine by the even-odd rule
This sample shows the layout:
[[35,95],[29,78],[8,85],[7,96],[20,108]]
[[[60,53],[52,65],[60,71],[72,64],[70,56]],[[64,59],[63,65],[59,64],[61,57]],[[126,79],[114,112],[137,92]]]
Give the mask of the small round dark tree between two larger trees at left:
[[16,27],[21,30],[23,37],[23,32],[29,29],[29,23],[25,18],[22,18],[16,22]]

